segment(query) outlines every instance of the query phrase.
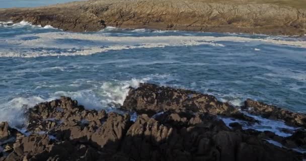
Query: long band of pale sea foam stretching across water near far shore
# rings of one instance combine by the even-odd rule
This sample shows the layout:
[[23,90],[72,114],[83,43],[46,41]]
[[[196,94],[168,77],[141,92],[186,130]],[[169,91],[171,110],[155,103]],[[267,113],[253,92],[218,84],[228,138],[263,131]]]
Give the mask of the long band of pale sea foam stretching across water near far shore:
[[[27,23],[24,23],[27,24]],[[60,41],[60,43],[59,43]],[[80,45],[80,42],[82,45]],[[306,41],[258,39],[237,36],[143,36],[117,37],[101,34],[53,32],[28,34],[14,38],[0,39],[6,44],[0,51],[0,57],[38,57],[38,56],[74,56],[91,55],[110,50],[128,50],[137,48],[162,48],[167,46],[209,45],[224,47],[219,42],[256,42],[276,45],[290,45],[306,48]],[[217,43],[218,42],[218,43]]]

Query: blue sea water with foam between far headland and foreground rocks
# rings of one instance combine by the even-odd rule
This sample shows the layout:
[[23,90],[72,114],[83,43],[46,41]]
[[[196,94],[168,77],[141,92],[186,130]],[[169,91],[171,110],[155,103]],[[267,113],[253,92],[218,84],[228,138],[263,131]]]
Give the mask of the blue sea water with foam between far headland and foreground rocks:
[[305,63],[305,37],[111,27],[72,33],[2,22],[0,120],[23,124],[27,108],[60,96],[114,110],[129,86],[144,82],[304,113]]

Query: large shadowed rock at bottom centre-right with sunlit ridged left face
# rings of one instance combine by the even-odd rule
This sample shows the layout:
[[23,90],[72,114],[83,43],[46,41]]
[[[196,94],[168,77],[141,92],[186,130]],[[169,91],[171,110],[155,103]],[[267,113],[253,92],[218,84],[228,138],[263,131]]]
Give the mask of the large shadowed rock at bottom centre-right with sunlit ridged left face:
[[139,116],[123,140],[121,153],[133,160],[300,159],[257,135],[234,132],[208,113],[183,115],[164,113],[157,119]]

